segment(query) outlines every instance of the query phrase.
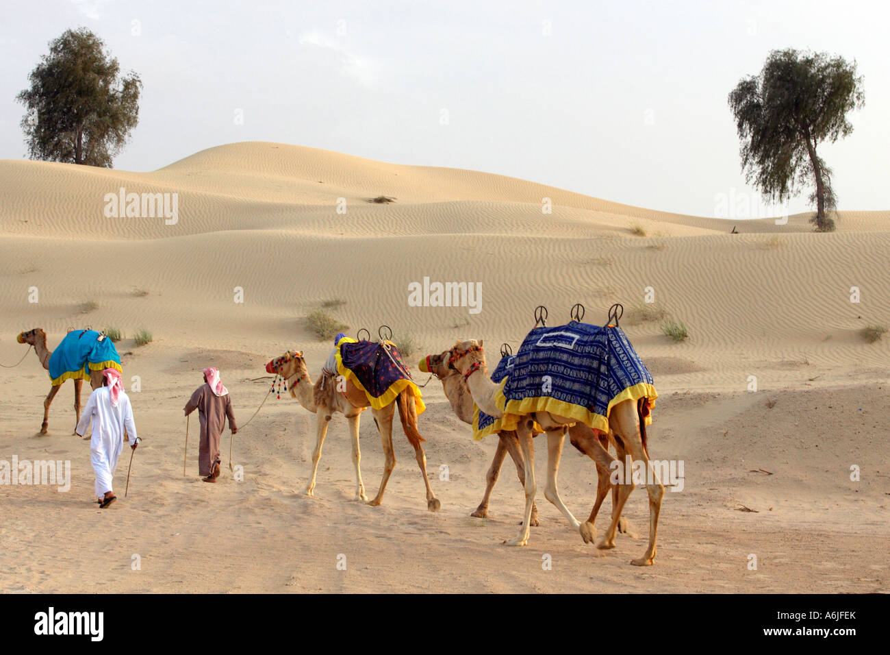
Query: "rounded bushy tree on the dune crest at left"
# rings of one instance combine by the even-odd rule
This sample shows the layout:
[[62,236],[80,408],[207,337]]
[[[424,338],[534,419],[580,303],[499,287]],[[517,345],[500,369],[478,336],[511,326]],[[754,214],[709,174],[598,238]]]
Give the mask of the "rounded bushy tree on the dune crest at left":
[[68,29],[28,75],[16,99],[28,110],[21,127],[32,160],[111,168],[139,122],[142,81],[133,72],[118,77],[104,46],[88,29]]

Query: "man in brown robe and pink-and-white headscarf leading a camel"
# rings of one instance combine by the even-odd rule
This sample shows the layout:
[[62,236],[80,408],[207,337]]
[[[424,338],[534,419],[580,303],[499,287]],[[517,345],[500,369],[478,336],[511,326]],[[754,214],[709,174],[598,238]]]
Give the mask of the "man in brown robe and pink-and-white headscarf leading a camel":
[[213,367],[204,369],[204,384],[191,394],[185,404],[185,415],[196,409],[201,420],[198,472],[205,482],[215,482],[220,477],[220,438],[226,418],[232,434],[238,434],[238,426],[231,410],[229,389],[223,386],[220,372]]

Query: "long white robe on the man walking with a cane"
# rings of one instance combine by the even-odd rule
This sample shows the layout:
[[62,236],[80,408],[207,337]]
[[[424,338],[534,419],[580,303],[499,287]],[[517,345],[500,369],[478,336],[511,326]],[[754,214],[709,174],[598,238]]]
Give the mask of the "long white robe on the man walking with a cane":
[[77,423],[77,434],[83,436],[91,421],[93,438],[90,441],[90,460],[96,473],[96,497],[102,498],[112,490],[111,478],[117,468],[117,458],[124,449],[124,429],[131,445],[139,443],[133,421],[133,406],[124,389],[117,397],[117,406],[111,405],[108,387],[95,389]]

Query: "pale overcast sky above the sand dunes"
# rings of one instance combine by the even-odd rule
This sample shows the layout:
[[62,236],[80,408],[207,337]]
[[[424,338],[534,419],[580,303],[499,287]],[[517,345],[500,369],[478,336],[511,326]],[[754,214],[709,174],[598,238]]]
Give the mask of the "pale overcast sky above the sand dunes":
[[726,95],[771,49],[794,47],[857,61],[865,108],[821,154],[841,210],[890,209],[887,6],[4,0],[0,159],[26,156],[15,95],[28,72],[84,26],[144,85],[115,168],[275,141],[714,216],[717,194],[754,193]]

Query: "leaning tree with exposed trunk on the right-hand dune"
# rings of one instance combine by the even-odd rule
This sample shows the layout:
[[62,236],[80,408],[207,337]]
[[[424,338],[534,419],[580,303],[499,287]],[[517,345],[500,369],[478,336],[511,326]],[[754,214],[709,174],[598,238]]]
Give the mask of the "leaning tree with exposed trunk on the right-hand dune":
[[837,214],[832,172],[816,147],[853,132],[846,114],[864,103],[855,61],[773,50],[760,75],[741,79],[729,94],[748,183],[771,201],[785,201],[812,183],[816,213],[811,222],[819,232],[834,230],[827,216]]

